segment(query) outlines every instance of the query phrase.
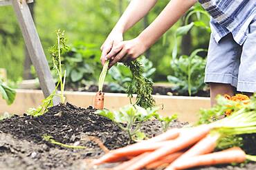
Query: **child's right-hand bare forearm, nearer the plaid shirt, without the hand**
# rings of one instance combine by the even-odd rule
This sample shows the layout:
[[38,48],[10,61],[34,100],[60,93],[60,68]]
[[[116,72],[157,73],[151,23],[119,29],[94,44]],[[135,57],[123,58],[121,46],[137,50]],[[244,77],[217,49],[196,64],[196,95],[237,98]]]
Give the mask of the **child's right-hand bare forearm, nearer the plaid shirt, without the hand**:
[[196,3],[196,0],[170,1],[155,21],[141,32],[138,38],[145,43],[147,48],[150,47],[176,23],[194,3]]

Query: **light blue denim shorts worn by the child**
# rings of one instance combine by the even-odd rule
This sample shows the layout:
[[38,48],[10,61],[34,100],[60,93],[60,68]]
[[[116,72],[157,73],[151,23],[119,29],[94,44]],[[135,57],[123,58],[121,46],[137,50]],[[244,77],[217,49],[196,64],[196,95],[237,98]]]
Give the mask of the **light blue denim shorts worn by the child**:
[[235,42],[232,34],[219,43],[210,38],[205,83],[224,83],[239,92],[256,92],[256,21],[250,23],[243,45]]

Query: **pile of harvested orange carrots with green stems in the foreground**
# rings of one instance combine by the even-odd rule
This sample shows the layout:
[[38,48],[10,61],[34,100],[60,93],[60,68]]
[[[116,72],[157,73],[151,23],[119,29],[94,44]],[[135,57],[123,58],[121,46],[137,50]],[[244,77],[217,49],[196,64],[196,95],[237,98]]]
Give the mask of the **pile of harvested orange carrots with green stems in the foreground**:
[[93,164],[120,162],[114,170],[176,170],[255,161],[255,156],[246,155],[235,142],[229,141],[227,149],[217,151],[219,142],[227,137],[256,133],[255,98],[226,118],[207,125],[170,129],[149,140],[109,151]]

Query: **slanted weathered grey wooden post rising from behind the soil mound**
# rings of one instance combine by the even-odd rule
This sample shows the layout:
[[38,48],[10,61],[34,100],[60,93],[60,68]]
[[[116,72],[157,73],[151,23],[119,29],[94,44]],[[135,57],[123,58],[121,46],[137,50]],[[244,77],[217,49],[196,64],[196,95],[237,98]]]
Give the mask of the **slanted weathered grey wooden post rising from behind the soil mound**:
[[[20,3],[20,0],[12,0],[12,5],[24,36],[28,54],[37,71],[40,86],[44,92],[44,96],[47,97],[55,90],[55,83],[53,82],[53,77],[51,76],[51,71],[28,4],[25,0],[22,0],[22,3]],[[55,98],[54,103],[57,104],[59,101],[59,98]]]

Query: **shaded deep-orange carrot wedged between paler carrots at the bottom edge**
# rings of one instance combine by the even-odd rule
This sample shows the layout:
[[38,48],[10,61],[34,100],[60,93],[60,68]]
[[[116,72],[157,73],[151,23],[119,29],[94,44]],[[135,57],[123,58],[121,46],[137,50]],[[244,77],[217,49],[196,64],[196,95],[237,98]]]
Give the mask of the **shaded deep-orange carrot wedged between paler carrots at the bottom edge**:
[[164,164],[170,164],[171,162],[173,162],[174,160],[176,160],[176,158],[178,158],[179,156],[181,156],[181,154],[183,154],[182,151],[176,152],[176,153],[172,153],[168,156],[165,156],[164,158],[161,158],[160,160],[156,160],[156,162],[152,162],[151,164],[148,164],[146,166],[147,169],[156,169],[157,167],[163,166]]

